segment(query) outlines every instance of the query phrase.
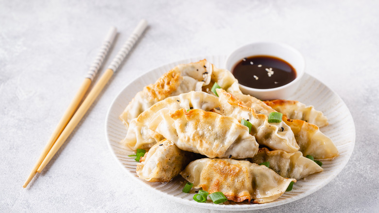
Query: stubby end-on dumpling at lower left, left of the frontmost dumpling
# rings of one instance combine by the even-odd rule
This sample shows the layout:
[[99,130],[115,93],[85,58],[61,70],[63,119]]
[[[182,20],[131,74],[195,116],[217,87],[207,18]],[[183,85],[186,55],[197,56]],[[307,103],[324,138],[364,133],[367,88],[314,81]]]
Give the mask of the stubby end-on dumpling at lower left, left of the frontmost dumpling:
[[166,139],[156,143],[137,163],[137,175],[149,182],[169,182],[186,167],[190,153]]

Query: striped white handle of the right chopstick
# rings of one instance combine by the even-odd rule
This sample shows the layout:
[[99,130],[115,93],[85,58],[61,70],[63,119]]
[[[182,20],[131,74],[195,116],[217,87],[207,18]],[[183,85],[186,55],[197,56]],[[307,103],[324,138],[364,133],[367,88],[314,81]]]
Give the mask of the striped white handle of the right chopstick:
[[130,52],[130,50],[132,49],[132,47],[134,46],[138,38],[141,36],[143,31],[146,29],[146,27],[147,27],[147,21],[145,19],[142,19],[138,23],[136,29],[134,29],[132,35],[130,35],[128,40],[125,41],[121,50],[117,53],[116,57],[113,59],[113,61],[109,65],[108,69],[115,72],[119,68],[121,62],[125,59],[126,55],[128,55],[128,53]]

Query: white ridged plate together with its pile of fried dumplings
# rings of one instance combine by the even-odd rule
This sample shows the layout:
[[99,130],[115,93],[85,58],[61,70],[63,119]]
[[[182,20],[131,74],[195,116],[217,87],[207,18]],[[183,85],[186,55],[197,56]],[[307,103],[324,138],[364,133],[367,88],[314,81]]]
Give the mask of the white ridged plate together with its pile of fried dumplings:
[[[258,100],[221,69],[225,59],[173,62],[117,95],[105,132],[130,177],[176,202],[227,211],[283,205],[336,177],[355,143],[342,99],[306,73],[288,100]],[[199,190],[227,201],[196,201]]]

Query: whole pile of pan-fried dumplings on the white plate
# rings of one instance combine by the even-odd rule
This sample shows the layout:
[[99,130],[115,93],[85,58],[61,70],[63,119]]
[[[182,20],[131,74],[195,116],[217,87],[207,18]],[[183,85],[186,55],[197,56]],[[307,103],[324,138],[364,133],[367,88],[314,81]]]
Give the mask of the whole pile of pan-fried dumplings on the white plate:
[[[270,123],[272,112],[282,113],[282,121]],[[244,95],[230,71],[205,59],[178,65],[144,87],[120,119],[128,129],[121,144],[146,150],[137,163],[139,178],[170,182],[180,174],[194,188],[234,202],[274,201],[291,182],[323,171],[307,156],[339,155],[319,129],[328,124],[322,112]]]

